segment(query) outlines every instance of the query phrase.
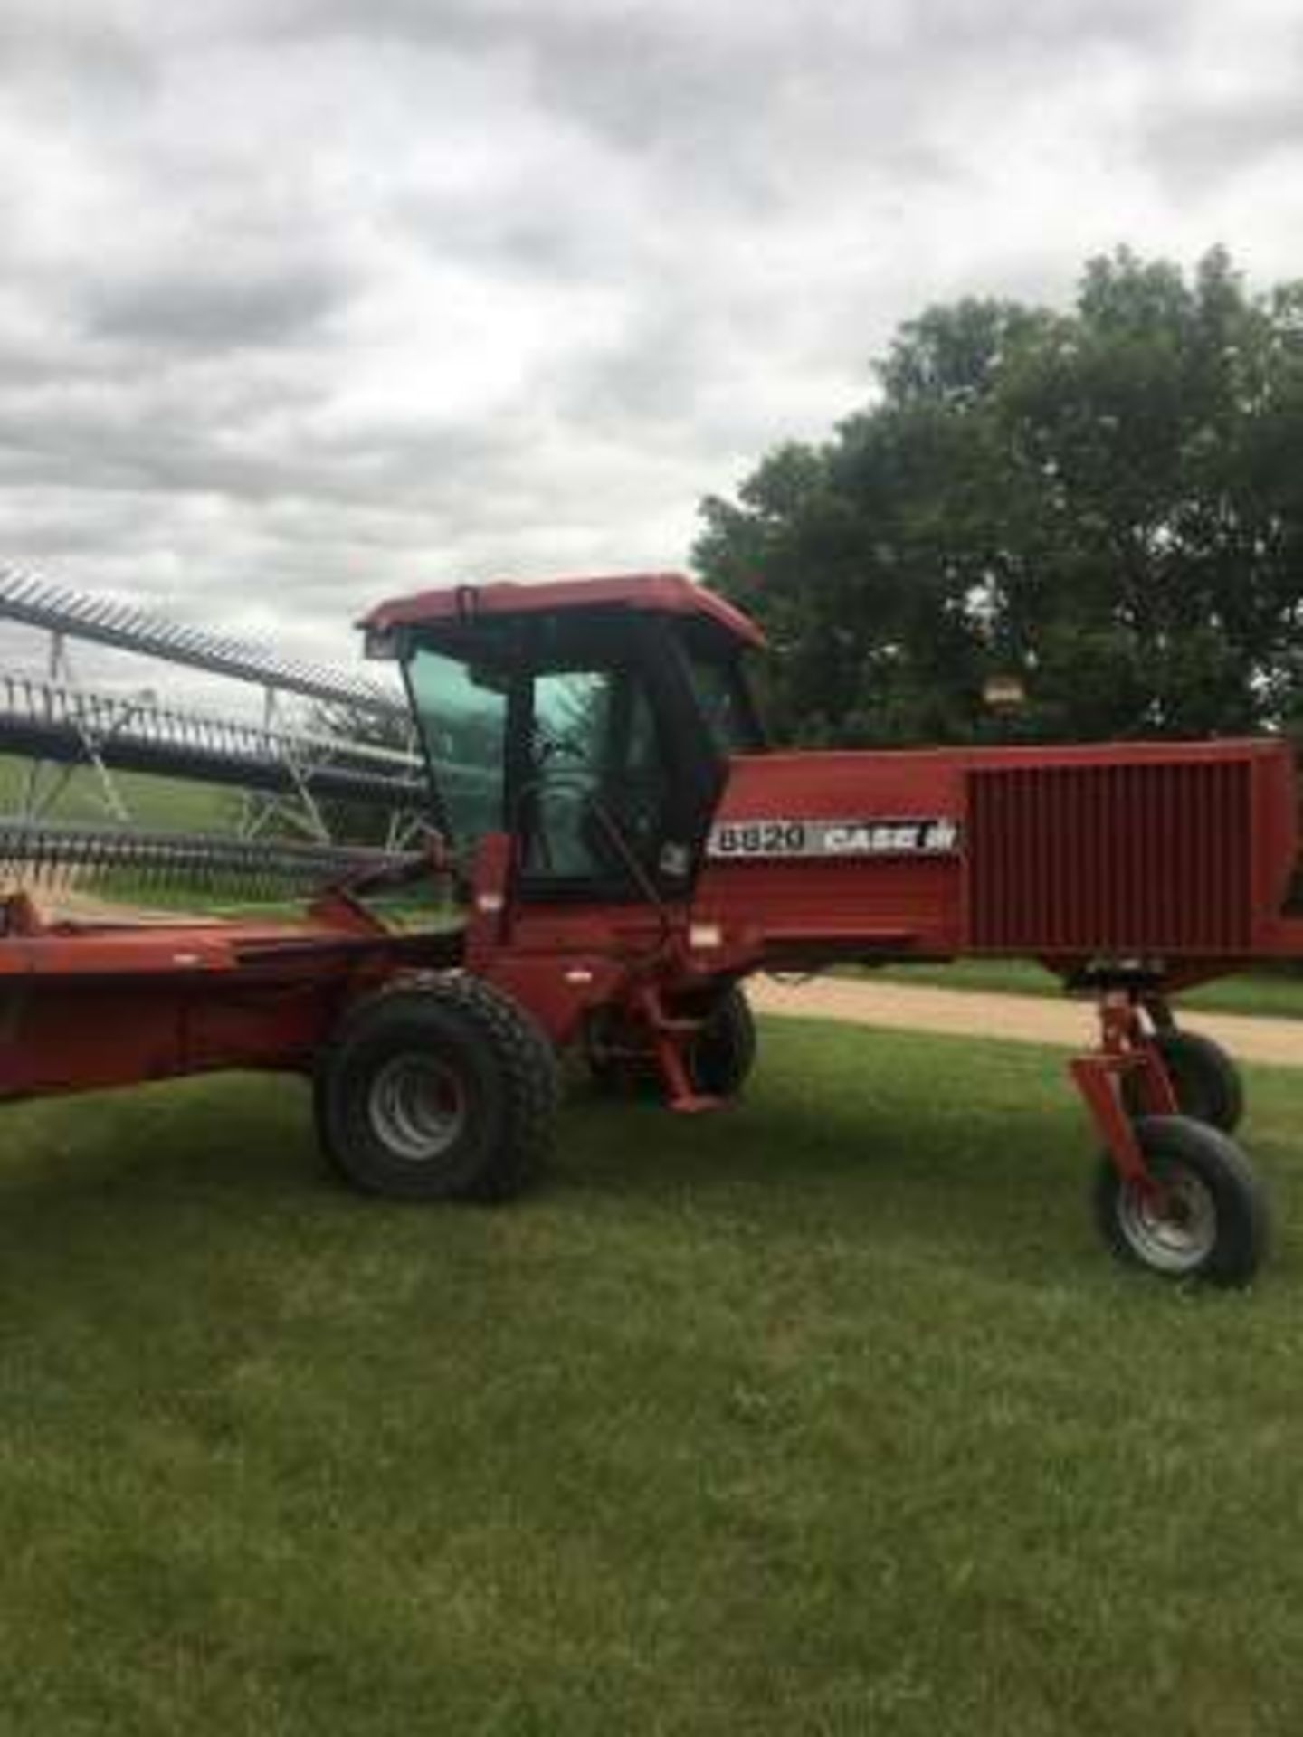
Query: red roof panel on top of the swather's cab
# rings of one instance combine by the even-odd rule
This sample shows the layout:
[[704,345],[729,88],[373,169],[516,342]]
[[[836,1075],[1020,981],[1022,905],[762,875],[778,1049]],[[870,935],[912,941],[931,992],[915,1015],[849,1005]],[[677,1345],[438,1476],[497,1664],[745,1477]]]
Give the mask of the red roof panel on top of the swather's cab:
[[615,573],[599,578],[546,578],[537,584],[495,578],[483,585],[417,591],[410,598],[391,598],[377,604],[358,625],[384,631],[415,622],[455,622],[471,615],[535,615],[594,606],[695,615],[723,627],[744,644],[764,644],[764,634],[752,620],[685,573]]

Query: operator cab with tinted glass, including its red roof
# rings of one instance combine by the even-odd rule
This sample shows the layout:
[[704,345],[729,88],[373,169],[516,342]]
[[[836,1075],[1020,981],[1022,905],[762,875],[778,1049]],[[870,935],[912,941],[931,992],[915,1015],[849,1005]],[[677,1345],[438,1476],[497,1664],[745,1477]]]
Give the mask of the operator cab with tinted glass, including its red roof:
[[511,834],[525,900],[691,886],[730,756],[763,747],[745,617],[652,575],[426,592],[363,625],[403,665],[459,856]]

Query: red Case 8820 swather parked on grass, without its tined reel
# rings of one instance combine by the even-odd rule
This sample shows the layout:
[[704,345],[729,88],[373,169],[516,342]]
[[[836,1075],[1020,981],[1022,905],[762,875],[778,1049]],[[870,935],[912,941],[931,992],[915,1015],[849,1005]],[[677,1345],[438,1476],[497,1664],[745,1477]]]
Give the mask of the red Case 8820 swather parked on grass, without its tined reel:
[[752,971],[1030,955],[1100,1006],[1072,1070],[1105,1235],[1174,1277],[1254,1271],[1239,1080],[1169,995],[1303,957],[1282,742],[764,752],[761,636],[676,575],[422,592],[363,625],[443,775],[464,922],[400,936],[335,893],[299,924],[45,926],[10,900],[0,1091],[313,1072],[354,1181],[497,1197],[551,1119],[540,1032],[707,1108],[749,1065]]

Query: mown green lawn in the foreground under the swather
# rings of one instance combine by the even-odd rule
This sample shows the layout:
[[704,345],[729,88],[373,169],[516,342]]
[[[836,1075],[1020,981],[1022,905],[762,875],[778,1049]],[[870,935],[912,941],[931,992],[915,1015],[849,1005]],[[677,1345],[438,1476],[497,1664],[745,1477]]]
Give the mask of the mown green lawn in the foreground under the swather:
[[775,1021],[582,1094],[514,1207],[351,1197],[290,1080],[7,1113],[0,1730],[1303,1728],[1303,1073],[1280,1247],[1115,1268],[1062,1058]]

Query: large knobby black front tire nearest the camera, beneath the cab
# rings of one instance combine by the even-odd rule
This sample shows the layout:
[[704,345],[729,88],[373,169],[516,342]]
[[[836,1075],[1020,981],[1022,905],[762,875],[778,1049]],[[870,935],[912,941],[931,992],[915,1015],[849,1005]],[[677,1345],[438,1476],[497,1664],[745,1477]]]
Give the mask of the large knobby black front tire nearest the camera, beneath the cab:
[[318,1058],[321,1150],[393,1200],[507,1200],[546,1164],[556,1058],[513,1001],[469,976],[382,990]]

